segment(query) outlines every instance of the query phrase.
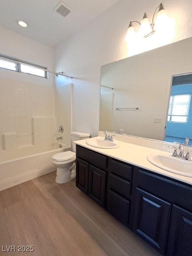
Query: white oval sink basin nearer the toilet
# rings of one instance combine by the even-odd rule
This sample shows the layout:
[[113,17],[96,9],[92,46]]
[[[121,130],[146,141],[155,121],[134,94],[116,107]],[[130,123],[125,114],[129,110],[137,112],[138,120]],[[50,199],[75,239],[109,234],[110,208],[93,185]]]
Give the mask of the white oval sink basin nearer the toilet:
[[91,138],[86,140],[87,145],[95,148],[118,148],[116,142],[106,141],[103,138]]

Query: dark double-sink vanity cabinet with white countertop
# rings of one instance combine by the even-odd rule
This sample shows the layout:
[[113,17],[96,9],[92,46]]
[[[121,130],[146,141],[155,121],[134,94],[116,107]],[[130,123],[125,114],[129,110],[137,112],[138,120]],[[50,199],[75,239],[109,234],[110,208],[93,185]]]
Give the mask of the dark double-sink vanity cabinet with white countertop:
[[171,144],[114,135],[76,141],[76,186],[161,254],[192,255],[191,161]]

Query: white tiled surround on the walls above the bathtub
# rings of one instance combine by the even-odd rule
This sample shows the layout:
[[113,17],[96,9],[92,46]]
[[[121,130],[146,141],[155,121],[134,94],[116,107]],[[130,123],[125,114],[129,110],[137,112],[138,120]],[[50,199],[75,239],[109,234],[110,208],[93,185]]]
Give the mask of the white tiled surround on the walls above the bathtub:
[[[70,92],[69,85],[67,89]],[[0,162],[55,148],[59,134],[54,102],[58,92],[56,87],[40,83],[0,78]],[[62,118],[67,121],[62,124],[66,140],[71,130],[71,94],[66,93],[60,105],[62,100],[67,103]],[[69,140],[60,142],[69,144]]]

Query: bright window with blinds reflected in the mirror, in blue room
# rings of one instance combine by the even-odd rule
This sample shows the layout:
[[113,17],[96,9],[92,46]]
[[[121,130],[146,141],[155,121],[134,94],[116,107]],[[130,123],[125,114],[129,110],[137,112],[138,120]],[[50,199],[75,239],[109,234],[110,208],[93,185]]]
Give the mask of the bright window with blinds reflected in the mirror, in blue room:
[[171,95],[167,121],[187,123],[191,95]]

